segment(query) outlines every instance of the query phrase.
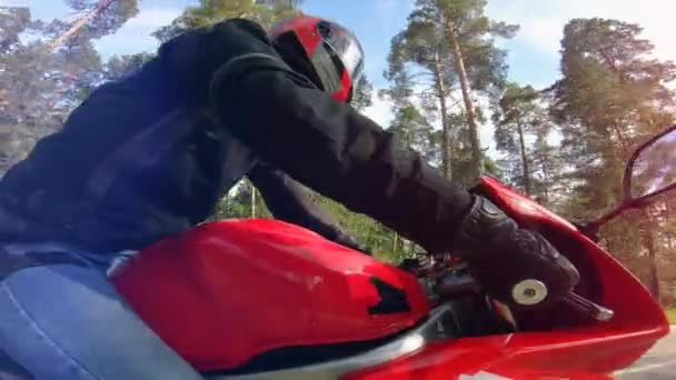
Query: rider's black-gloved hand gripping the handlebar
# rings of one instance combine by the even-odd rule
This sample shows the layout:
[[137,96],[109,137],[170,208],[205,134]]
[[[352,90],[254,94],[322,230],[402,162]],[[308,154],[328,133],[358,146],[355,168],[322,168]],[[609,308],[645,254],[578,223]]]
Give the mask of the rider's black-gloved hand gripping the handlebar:
[[533,308],[560,300],[579,281],[575,267],[538,232],[521,229],[497,206],[474,196],[454,252],[497,300]]

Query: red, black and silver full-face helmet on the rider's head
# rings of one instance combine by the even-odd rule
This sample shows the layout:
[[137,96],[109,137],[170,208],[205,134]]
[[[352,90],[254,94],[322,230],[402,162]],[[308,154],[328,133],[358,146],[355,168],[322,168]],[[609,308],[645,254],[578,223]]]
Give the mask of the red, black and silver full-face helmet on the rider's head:
[[281,21],[269,34],[278,47],[299,44],[320,82],[317,84],[336,100],[351,100],[364,71],[364,50],[352,32],[335,22],[302,16]]

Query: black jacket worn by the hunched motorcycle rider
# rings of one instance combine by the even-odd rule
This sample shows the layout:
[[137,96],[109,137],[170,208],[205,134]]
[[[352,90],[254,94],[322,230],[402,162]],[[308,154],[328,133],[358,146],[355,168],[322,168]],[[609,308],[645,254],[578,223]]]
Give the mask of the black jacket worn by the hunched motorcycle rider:
[[296,180],[430,250],[450,248],[471,201],[230,20],[165,43],[40,141],[0,182],[0,236],[140,248],[202,221],[242,176],[281,219],[331,224]]

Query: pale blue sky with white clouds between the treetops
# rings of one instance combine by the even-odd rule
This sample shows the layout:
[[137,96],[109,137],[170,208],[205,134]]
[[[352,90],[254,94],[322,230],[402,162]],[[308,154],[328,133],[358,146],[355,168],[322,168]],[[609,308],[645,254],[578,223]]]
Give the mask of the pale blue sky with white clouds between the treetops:
[[[97,48],[105,56],[149,51],[157,41],[149,34],[169,23],[192,0],[139,0],[140,13],[117,33],[102,38]],[[376,88],[387,86],[382,71],[387,68],[390,39],[406,24],[414,0],[306,0],[304,10],[331,18],[355,31],[366,50],[366,72]],[[1,4],[27,4],[41,19],[64,17],[68,8],[61,0],[0,0]],[[509,50],[509,77],[537,88],[558,77],[558,44],[563,27],[571,18],[605,17],[638,22],[644,36],[656,44],[659,58],[676,60],[672,16],[674,0],[488,0],[489,17],[521,29],[510,41],[500,42]],[[375,99],[367,114],[384,126],[390,120],[389,104]],[[488,133],[488,131],[486,131]],[[484,133],[483,133],[484,134]]]

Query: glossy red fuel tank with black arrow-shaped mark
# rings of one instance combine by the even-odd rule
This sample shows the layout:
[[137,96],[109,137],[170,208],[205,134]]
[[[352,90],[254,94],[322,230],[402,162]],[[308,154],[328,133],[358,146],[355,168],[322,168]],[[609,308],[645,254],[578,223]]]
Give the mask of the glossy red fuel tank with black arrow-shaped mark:
[[384,338],[429,311],[412,276],[271,219],[201,224],[142,251],[112,281],[200,371],[284,347]]

